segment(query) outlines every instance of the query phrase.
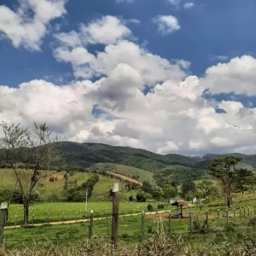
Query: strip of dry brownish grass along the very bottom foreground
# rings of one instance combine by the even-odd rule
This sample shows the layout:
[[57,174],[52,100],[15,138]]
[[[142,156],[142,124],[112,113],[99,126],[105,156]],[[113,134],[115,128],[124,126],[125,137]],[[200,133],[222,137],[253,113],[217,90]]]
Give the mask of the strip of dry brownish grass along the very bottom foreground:
[[[250,240],[250,239],[248,239]],[[183,240],[182,236],[178,238],[168,236],[154,236],[144,244],[133,247],[119,247],[119,250],[112,250],[109,241],[92,240],[86,241],[84,247],[78,249],[75,247],[49,249],[26,249],[22,252],[12,251],[4,253],[0,251],[0,256],[249,256],[256,255],[256,245],[245,242],[244,245],[230,247],[230,243],[224,241],[218,246],[205,246],[190,248]]]

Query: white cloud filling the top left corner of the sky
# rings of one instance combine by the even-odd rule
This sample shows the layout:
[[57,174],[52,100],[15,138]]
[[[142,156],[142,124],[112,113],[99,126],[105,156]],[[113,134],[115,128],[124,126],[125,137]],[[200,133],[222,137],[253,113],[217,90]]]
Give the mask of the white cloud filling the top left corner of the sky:
[[16,12],[0,5],[0,33],[3,33],[0,38],[9,38],[15,47],[39,50],[49,22],[66,14],[65,3],[65,0],[22,0]]

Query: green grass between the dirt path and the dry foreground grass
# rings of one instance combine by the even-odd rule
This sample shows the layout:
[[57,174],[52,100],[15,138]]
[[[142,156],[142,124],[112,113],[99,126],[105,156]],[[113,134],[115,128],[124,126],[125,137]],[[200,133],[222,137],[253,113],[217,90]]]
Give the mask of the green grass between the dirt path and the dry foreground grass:
[[[184,219],[172,219],[172,235],[186,237],[188,247],[203,247],[207,243],[222,244],[226,236],[234,236],[233,239],[239,239],[238,234],[253,232],[253,226],[248,225],[249,219],[221,217],[218,226],[218,218],[209,216],[208,229],[205,232],[195,230],[195,233],[189,233],[190,223],[188,216]],[[253,216],[251,216],[253,218]],[[193,216],[193,220],[198,219],[199,224],[204,224],[205,218]],[[5,230],[5,247],[7,250],[21,250],[27,247],[83,247],[88,239],[89,224],[60,224],[44,225],[41,227],[23,227],[15,230]],[[225,232],[230,232],[228,235]],[[169,232],[168,214],[147,215],[145,220],[145,237],[151,238],[154,234],[167,235]],[[232,233],[232,234],[231,234]],[[95,220],[93,224],[93,236],[95,239],[105,239],[109,241],[111,234],[111,218]],[[231,234],[231,235],[229,235]],[[119,245],[136,246],[141,243],[142,237],[142,217],[119,217]],[[181,236],[182,237],[182,236]],[[240,237],[241,238],[241,237]],[[211,241],[212,240],[212,241]],[[213,254],[212,254],[213,255]]]

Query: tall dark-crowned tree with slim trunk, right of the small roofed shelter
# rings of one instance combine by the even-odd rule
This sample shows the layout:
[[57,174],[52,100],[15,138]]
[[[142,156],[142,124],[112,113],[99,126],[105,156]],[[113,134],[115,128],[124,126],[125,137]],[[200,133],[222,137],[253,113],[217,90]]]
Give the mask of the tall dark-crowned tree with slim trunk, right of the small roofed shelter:
[[212,176],[218,178],[224,201],[226,201],[229,208],[232,202],[232,193],[234,193],[236,189],[236,168],[240,161],[240,157],[228,156],[225,158],[213,159],[207,165]]

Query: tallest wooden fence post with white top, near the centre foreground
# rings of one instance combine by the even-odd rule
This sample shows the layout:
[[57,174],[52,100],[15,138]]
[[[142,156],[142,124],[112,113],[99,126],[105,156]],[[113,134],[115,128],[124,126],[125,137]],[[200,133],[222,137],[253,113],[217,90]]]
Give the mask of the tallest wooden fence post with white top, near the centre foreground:
[[119,244],[119,200],[117,192],[119,192],[119,183],[113,183],[113,209],[112,209],[112,248],[117,249]]

